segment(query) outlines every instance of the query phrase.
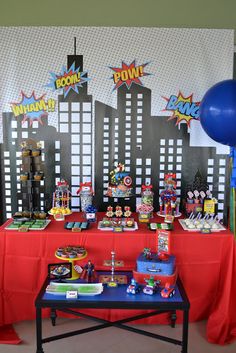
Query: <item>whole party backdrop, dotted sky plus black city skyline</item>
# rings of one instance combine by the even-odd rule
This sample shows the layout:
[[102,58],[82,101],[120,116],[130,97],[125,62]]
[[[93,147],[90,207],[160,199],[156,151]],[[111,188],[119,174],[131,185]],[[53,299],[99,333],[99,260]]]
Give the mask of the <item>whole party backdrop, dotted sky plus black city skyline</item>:
[[[44,204],[44,195],[52,194],[61,176],[71,185],[72,208],[80,209],[76,191],[87,181],[95,185],[98,208],[106,207],[110,202],[106,195],[109,172],[119,161],[131,173],[136,195],[142,183],[156,183],[156,208],[164,174],[176,173],[181,198],[201,160],[212,191],[221,199],[223,215],[228,147],[211,140],[198,120],[191,119],[188,125],[181,116],[177,125],[176,117],[168,121],[174,111],[166,107],[171,96],[180,94],[185,100],[192,96],[192,102],[200,102],[216,82],[232,78],[233,30],[0,27],[0,45],[0,147],[6,197],[2,209],[6,217],[24,208],[20,197],[17,202],[12,197],[21,192],[18,153],[24,138],[41,140],[44,146],[42,209],[50,208]],[[50,83],[68,70],[74,59],[82,66],[79,71],[84,73],[84,82],[77,92],[71,90],[66,96]],[[120,77],[123,68],[130,70],[131,79],[115,82],[114,74]],[[136,77],[138,72],[142,75]],[[55,111],[41,119],[44,125],[35,121],[27,130],[29,119],[22,124],[22,116],[15,118],[12,104],[20,103],[23,93],[30,97],[33,92],[36,98],[44,95],[46,101],[55,100]],[[140,198],[134,199],[140,202]]]

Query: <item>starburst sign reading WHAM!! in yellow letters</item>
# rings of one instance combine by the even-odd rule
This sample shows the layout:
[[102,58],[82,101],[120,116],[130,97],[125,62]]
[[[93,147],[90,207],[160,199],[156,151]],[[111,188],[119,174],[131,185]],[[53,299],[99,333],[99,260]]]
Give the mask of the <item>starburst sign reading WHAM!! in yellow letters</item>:
[[36,98],[34,91],[30,97],[27,97],[23,91],[21,91],[22,99],[19,103],[11,103],[11,110],[15,117],[19,115],[24,115],[22,124],[27,120],[30,121],[32,125],[33,121],[38,120],[40,124],[43,125],[41,118],[48,115],[48,112],[55,111],[55,100],[44,99],[45,94],[39,98]]

